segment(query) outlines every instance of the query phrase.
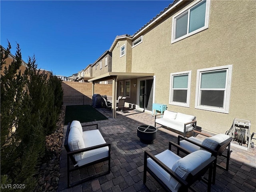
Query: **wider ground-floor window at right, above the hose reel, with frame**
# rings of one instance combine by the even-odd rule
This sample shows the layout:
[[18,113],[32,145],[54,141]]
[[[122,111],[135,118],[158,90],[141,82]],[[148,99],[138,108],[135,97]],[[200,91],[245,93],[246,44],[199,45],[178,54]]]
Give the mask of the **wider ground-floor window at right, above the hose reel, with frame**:
[[197,70],[195,108],[228,113],[232,65]]

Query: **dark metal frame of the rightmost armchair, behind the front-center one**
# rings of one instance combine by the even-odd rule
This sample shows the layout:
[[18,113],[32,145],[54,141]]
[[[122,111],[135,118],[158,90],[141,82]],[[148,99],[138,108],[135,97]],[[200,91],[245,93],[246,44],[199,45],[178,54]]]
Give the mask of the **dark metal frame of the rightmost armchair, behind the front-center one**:
[[[211,137],[211,135],[209,135],[209,134],[202,133],[202,132],[199,132],[199,131],[196,131],[196,130],[193,130],[193,132],[194,132],[194,136],[195,136],[195,134],[201,134],[201,135],[204,135],[204,136],[206,136],[206,137]],[[192,141],[192,140],[189,140],[188,138],[182,137],[182,136],[180,136],[180,135],[178,136],[178,145],[180,145],[180,140],[186,140],[186,141],[188,141],[188,142],[190,142],[190,143],[192,143],[192,144],[194,144],[194,145],[196,145],[196,146],[199,146],[199,147],[201,147],[201,148],[203,148],[203,149],[205,149],[205,150],[211,152],[212,155],[213,155],[214,157],[216,157],[216,160],[214,161],[214,166],[213,166],[212,184],[215,184],[216,167],[217,167],[217,166],[220,167],[220,168],[222,168],[222,169],[224,169],[224,170],[226,170],[226,171],[228,171],[229,160],[230,160],[230,153],[231,153],[231,151],[230,151],[230,142],[233,140],[232,137],[230,137],[230,138],[226,139],[225,141],[221,142],[220,144],[218,144],[218,146],[216,147],[215,150],[212,150],[212,149],[210,149],[210,148],[208,148],[208,147],[206,147],[206,146],[203,146],[203,145],[201,145],[201,144],[198,144],[198,143],[196,143],[196,142],[194,142],[194,141]],[[225,150],[227,147],[228,147],[227,155],[224,155],[223,152],[224,152],[224,150]],[[179,150],[177,150],[177,154],[178,154],[178,153],[179,153]],[[222,157],[224,157],[224,158],[227,159],[227,161],[226,161],[226,167],[223,167],[223,166],[217,164],[217,157],[218,157],[218,156],[222,156]]]

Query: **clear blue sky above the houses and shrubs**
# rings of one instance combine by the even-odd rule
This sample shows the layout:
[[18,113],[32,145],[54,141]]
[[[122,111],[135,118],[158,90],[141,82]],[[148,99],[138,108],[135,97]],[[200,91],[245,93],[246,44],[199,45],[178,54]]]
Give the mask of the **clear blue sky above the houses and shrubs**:
[[0,1],[0,43],[7,39],[22,59],[35,55],[38,68],[71,76],[109,50],[117,35],[134,34],[172,0]]

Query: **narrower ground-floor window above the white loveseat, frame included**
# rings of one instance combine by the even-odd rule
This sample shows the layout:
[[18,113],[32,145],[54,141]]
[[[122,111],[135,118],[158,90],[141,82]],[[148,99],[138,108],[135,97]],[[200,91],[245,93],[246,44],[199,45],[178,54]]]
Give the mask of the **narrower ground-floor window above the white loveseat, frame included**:
[[191,71],[170,74],[169,104],[189,107]]

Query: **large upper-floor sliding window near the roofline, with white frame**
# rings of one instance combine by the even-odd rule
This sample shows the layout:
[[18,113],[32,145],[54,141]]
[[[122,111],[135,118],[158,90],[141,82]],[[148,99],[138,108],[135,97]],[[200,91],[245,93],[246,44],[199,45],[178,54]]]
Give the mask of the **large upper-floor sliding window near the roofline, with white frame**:
[[172,18],[172,43],[205,30],[209,26],[210,0],[198,0]]

